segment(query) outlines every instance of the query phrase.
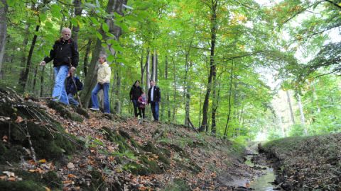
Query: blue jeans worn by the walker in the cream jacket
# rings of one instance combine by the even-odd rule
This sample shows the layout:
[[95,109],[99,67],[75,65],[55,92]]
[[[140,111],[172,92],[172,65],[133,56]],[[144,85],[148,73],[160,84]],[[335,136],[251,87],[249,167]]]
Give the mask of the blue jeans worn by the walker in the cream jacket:
[[103,90],[104,95],[104,112],[110,113],[110,103],[109,103],[109,83],[96,83],[94,89],[91,93],[92,108],[99,109],[99,103],[97,98],[97,93]]

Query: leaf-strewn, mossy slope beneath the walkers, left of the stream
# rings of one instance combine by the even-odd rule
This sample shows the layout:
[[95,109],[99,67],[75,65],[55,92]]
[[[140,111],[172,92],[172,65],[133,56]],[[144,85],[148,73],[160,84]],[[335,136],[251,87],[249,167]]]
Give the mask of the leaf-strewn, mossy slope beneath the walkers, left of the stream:
[[0,190],[249,190],[244,147],[0,88]]

